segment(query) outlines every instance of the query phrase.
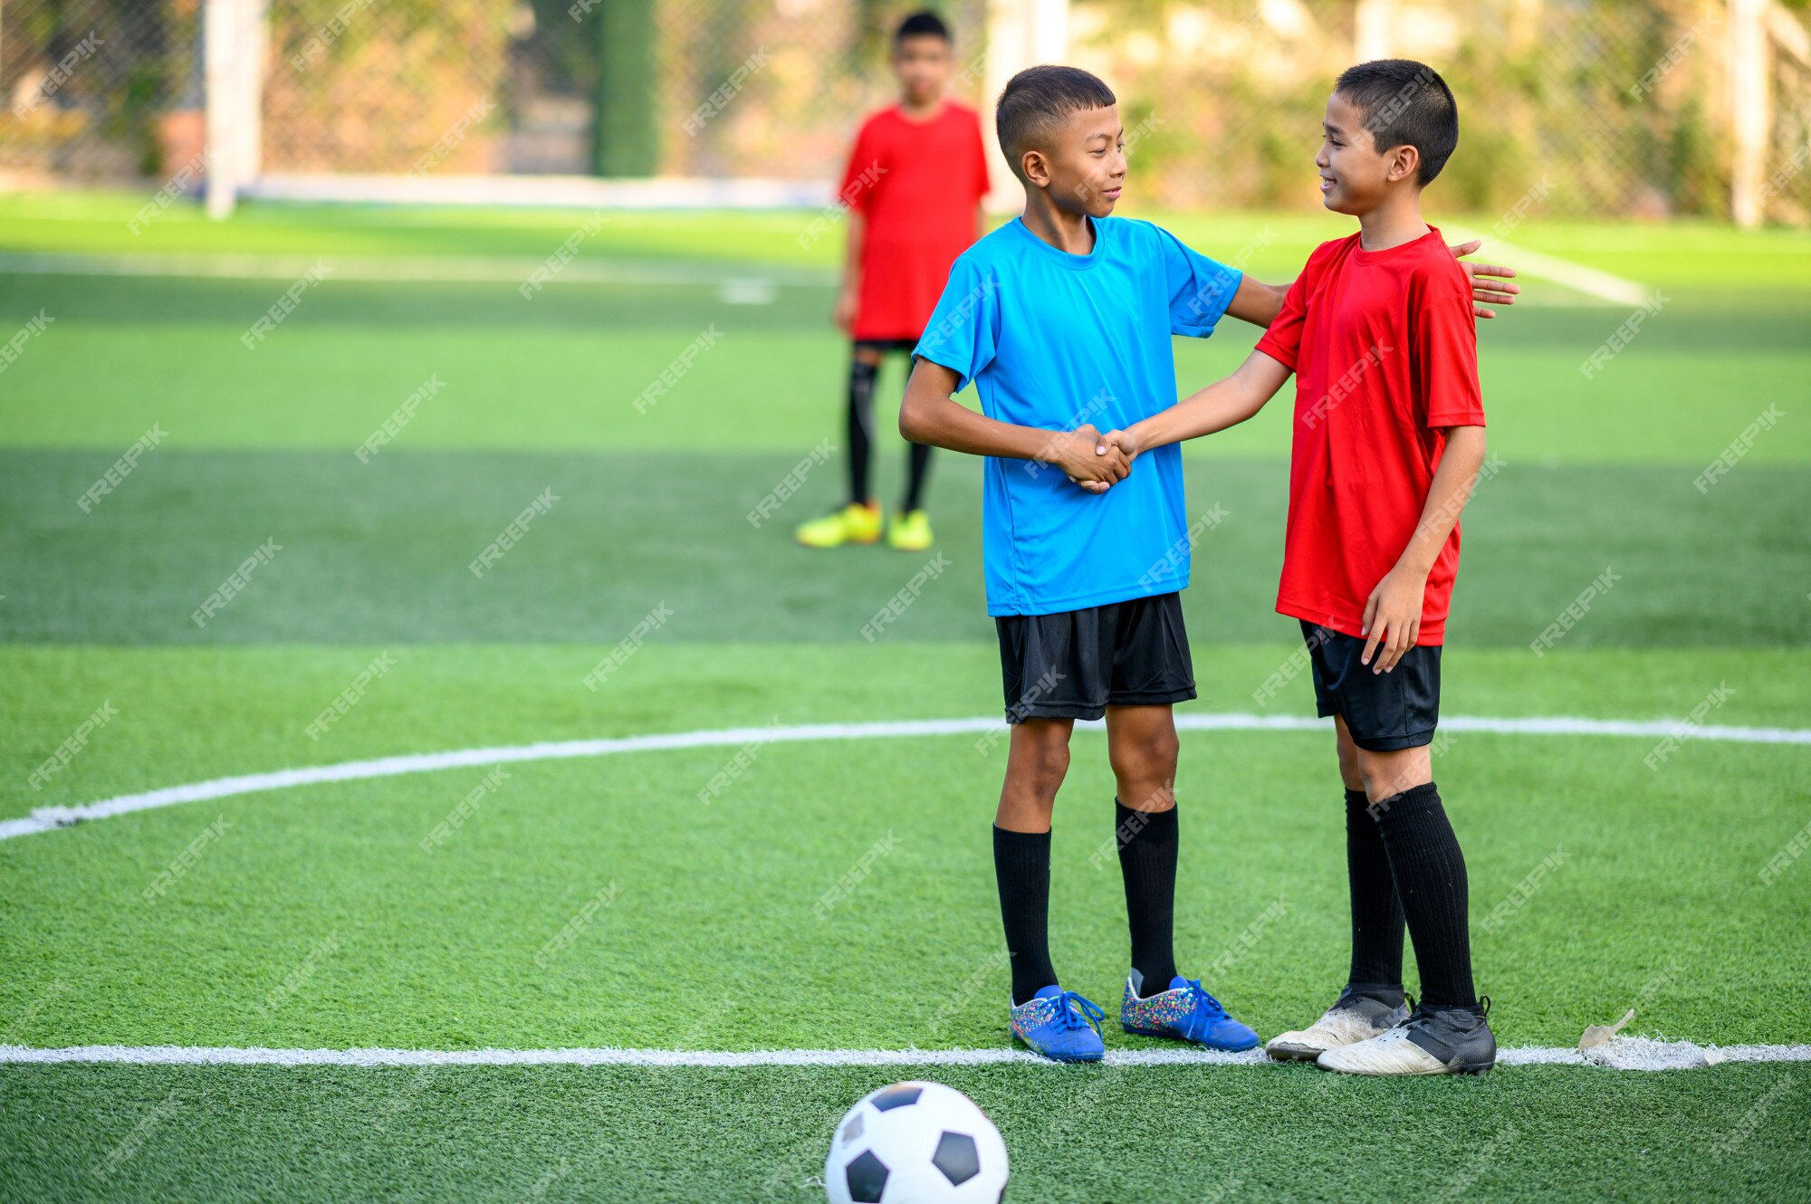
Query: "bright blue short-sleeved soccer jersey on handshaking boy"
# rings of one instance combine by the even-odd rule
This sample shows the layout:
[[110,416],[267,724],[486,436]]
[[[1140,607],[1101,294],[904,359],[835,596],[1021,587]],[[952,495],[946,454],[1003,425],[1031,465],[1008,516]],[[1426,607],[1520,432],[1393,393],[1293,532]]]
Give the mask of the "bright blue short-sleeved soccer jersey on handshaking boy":
[[[1175,404],[1170,335],[1212,335],[1239,279],[1148,221],[1096,221],[1094,250],[1070,255],[1014,217],[956,259],[913,355],[973,380],[989,418],[1128,427]],[[1103,494],[1049,463],[987,456],[991,616],[1168,594],[1188,585],[1188,552],[1175,444],[1143,453]]]

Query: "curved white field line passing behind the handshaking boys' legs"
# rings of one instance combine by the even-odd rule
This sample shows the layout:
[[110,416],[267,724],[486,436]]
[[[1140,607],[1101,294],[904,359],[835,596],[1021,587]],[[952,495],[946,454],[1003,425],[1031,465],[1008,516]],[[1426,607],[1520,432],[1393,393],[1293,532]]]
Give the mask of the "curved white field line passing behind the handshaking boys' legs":
[[[1440,721],[1447,731],[1485,731],[1500,735],[1565,735],[1565,737],[1643,737],[1662,739],[1679,735],[1681,722],[1675,719],[1492,719],[1474,715],[1452,715]],[[1101,731],[1101,722],[1076,724],[1078,730]],[[1177,715],[1175,726],[1181,731],[1326,731],[1327,719],[1306,719],[1297,715]],[[357,782],[378,777],[398,777],[404,773],[436,773],[440,769],[462,769],[471,766],[496,766],[520,760],[565,760],[572,757],[608,757],[614,753],[643,753],[674,748],[739,748],[752,741],[795,742],[795,741],[873,741],[925,735],[967,735],[973,731],[1000,731],[1003,719],[991,715],[976,719],[909,719],[895,722],[819,722],[797,724],[791,728],[717,728],[706,731],[672,731],[663,735],[628,735],[605,741],[552,741],[543,744],[513,744],[505,748],[464,748],[446,753],[409,753],[402,757],[378,757],[375,760],[346,760],[335,766],[308,766],[304,769],[275,769],[272,773],[246,773],[239,777],[190,782],[187,786],[165,786],[138,795],[116,795],[100,802],[76,807],[36,807],[31,815],[14,820],[0,820],[0,840],[29,836],[31,833],[51,831],[81,820],[103,820],[132,811],[152,811],[156,807],[174,807],[183,802],[206,802],[210,798],[234,798],[266,789],[286,789],[292,786],[315,786],[319,782]],[[1807,728],[1730,728],[1706,724],[1690,730],[1693,741],[1724,741],[1735,744],[1811,744]]]

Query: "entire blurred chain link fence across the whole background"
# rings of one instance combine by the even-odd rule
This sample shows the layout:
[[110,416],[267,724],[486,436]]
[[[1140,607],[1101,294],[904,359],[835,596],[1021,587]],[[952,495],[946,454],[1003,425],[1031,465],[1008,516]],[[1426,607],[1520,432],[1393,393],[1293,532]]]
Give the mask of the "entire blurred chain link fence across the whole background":
[[[268,0],[263,172],[831,179],[893,94],[887,0]],[[985,0],[936,5],[987,109]],[[1072,0],[1072,62],[1121,96],[1141,190],[1311,208],[1358,0]],[[1422,0],[1389,53],[1440,67],[1461,148],[1442,205],[1728,217],[1720,0]],[[1784,9],[1775,11],[1780,18]],[[1804,31],[1804,11],[1786,14]],[[1764,212],[1811,217],[1811,63],[1769,43]],[[203,138],[201,0],[0,0],[0,172],[130,181]]]

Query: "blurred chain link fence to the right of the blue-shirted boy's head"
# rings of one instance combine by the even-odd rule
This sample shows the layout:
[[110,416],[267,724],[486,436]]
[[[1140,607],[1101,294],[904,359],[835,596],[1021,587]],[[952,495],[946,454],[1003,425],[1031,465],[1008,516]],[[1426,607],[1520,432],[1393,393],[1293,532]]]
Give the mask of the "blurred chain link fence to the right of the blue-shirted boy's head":
[[[1355,60],[1356,7],[1083,0],[1076,58],[1114,81],[1128,129],[1150,130],[1139,170],[1168,203],[1308,208],[1304,167],[1329,85]],[[1460,105],[1443,208],[1498,212],[1534,192],[1547,215],[1728,217],[1722,4],[1454,0],[1414,14],[1389,54],[1434,63]],[[1811,92],[1797,60],[1773,60],[1771,163],[1786,167]],[[1800,172],[1769,214],[1804,221],[1807,199]]]

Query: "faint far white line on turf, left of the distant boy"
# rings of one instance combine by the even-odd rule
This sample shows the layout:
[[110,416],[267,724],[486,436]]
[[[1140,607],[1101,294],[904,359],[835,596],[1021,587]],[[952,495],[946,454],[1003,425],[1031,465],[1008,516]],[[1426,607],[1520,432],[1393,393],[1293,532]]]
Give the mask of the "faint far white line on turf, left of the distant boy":
[[[440,282],[471,281],[484,284],[520,284],[540,259],[485,255],[234,255],[149,252],[100,255],[80,252],[0,253],[0,275],[141,275],[197,277],[214,281],[293,281],[326,261],[330,281]],[[761,281],[762,284],[831,284],[828,268],[788,264],[714,264],[636,263],[623,259],[574,259],[552,279],[554,284],[708,284]]]

